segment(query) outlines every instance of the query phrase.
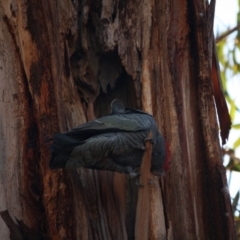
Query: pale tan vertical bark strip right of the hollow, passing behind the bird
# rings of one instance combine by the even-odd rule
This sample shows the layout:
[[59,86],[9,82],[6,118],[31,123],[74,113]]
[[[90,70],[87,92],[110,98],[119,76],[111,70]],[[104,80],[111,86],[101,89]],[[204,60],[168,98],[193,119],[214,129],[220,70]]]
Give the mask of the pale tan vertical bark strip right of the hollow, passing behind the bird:
[[[152,114],[153,113],[153,97],[152,97],[152,77],[153,74],[151,73],[151,33],[152,33],[152,8],[153,2],[152,1],[143,1],[143,39],[142,39],[142,106],[143,110]],[[143,164],[143,163],[142,163]],[[143,176],[146,178],[147,176],[150,177],[150,172],[146,169],[142,172]],[[141,198],[147,198],[149,195],[149,200],[146,202],[147,206],[145,206],[145,215],[149,218],[149,235],[148,238],[150,239],[165,239],[166,238],[166,229],[165,229],[165,219],[163,213],[163,205],[162,205],[162,196],[159,187],[159,179],[157,177],[151,176],[151,184],[150,186],[146,186],[148,190],[146,192],[141,192],[139,190],[139,201]],[[143,211],[143,210],[142,210]],[[138,216],[137,216],[138,217]],[[138,221],[138,219],[136,219]],[[146,225],[147,226],[147,225]],[[143,225],[142,225],[143,227]],[[147,228],[147,227],[146,227]],[[140,236],[140,235],[139,235]],[[142,235],[141,239],[144,238]]]

